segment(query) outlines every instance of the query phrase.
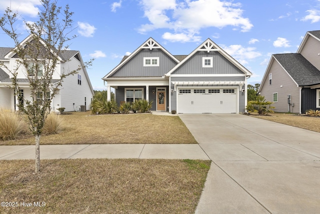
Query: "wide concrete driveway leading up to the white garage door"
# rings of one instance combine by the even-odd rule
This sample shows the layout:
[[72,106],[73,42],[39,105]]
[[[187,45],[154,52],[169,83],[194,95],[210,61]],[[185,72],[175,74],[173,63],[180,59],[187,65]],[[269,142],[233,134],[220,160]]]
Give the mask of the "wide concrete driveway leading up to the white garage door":
[[181,114],[212,160],[196,213],[319,213],[320,133],[239,114]]

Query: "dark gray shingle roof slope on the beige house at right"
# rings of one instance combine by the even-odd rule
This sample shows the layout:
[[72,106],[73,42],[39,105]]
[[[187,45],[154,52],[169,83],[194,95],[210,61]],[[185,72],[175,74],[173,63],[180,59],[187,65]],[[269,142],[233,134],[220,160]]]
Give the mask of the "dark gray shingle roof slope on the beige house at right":
[[299,86],[320,84],[320,71],[301,54],[274,54],[273,56]]

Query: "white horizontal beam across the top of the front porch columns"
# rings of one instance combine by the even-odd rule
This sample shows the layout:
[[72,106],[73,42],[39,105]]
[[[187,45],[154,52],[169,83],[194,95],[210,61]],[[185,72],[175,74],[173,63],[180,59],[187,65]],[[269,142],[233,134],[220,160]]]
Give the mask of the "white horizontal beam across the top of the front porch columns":
[[106,81],[107,85],[110,87],[113,86],[168,86],[168,80],[161,79],[161,80],[108,80]]

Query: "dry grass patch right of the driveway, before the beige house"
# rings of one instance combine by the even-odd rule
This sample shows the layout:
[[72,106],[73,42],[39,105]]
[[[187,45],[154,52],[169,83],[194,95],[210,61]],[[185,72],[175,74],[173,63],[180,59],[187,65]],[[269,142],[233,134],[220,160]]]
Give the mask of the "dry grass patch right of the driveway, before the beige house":
[[308,129],[311,131],[320,132],[320,117],[301,116],[288,113],[268,113],[270,116],[254,116],[256,118],[270,120],[277,123],[282,123],[298,128]]

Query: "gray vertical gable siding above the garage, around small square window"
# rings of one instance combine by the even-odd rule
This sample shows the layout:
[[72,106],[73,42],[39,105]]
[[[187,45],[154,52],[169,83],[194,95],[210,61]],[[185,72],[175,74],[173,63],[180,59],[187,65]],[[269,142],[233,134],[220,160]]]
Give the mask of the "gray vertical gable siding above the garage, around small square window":
[[[212,57],[212,68],[202,68],[202,58]],[[172,74],[243,74],[217,51],[198,51]]]

